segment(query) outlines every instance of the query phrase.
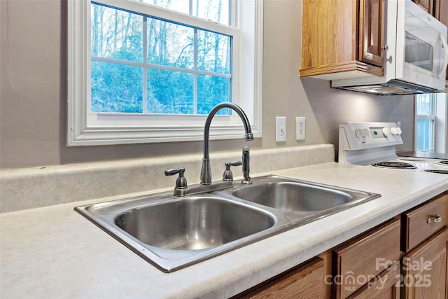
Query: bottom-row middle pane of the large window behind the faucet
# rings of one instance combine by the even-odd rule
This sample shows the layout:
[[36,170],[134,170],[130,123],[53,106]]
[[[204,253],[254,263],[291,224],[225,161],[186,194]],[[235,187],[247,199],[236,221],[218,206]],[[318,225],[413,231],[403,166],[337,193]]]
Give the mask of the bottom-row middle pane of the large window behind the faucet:
[[148,69],[148,113],[193,114],[194,80],[190,73]]

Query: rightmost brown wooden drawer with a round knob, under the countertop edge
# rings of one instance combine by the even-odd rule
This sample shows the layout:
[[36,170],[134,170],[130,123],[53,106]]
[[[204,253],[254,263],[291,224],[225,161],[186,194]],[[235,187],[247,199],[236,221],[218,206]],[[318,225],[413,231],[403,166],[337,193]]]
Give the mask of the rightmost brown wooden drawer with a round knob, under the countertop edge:
[[402,214],[402,251],[413,249],[447,223],[448,191]]

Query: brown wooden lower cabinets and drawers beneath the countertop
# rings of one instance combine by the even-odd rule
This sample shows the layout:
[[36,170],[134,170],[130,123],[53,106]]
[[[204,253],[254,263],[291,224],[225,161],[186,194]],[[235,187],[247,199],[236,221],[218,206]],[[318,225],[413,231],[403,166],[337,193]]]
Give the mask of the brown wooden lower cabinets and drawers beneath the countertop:
[[234,298],[448,298],[448,190]]

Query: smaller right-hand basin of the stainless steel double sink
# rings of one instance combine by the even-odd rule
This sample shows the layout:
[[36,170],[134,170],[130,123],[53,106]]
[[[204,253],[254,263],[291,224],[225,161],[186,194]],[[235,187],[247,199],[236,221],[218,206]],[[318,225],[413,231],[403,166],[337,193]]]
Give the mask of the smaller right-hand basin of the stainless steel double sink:
[[235,190],[232,195],[274,209],[291,211],[322,211],[356,198],[344,190],[293,181],[254,184]]

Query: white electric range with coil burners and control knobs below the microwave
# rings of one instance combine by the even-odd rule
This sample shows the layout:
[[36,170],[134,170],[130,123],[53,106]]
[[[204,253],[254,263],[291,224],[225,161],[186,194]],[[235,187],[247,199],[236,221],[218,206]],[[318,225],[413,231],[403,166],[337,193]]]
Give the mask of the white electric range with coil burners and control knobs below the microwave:
[[448,174],[448,160],[399,157],[402,144],[397,123],[342,123],[339,125],[339,163]]

